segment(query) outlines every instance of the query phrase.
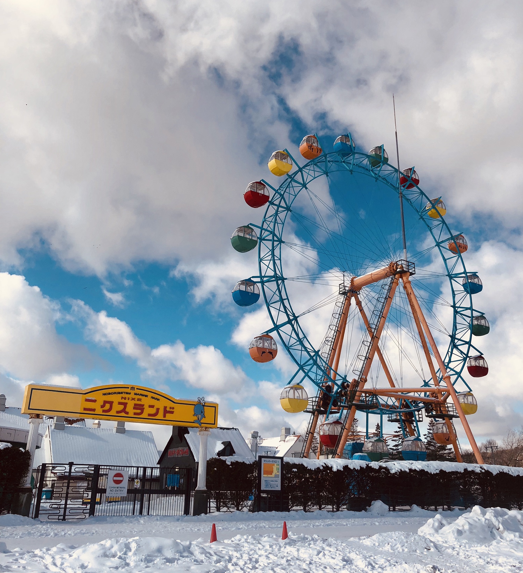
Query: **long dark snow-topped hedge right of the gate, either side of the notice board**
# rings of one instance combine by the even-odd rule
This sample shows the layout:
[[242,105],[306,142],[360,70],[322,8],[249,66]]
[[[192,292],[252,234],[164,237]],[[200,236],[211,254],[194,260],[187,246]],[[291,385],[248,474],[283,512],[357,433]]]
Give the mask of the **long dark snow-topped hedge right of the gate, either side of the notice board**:
[[[222,507],[240,509],[257,487],[256,472],[255,462],[214,458],[207,465],[207,488]],[[304,511],[364,509],[376,499],[393,509],[414,504],[523,509],[523,468],[506,466],[289,458],[284,462],[283,483],[288,508]]]

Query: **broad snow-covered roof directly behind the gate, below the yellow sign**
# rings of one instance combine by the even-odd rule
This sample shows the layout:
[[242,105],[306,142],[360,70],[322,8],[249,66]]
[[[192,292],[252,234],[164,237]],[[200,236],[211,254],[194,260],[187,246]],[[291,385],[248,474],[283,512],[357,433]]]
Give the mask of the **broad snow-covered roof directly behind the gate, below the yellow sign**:
[[108,428],[48,427],[40,450],[35,455],[35,466],[43,462],[155,466],[158,462],[158,449],[150,431],[125,430],[117,434]]

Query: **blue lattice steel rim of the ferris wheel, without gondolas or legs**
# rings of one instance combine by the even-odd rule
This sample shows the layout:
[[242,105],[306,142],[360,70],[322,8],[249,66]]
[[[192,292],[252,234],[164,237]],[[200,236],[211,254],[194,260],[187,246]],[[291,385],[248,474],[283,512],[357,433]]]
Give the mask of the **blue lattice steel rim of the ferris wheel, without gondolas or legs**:
[[[310,160],[300,167],[288,150],[284,150],[293,161],[296,169],[286,175],[285,180],[276,189],[270,183],[262,179],[266,186],[274,191],[265,210],[261,225],[249,223],[256,227],[258,234],[258,272],[259,276],[250,277],[250,280],[258,282],[264,296],[265,305],[268,309],[273,327],[265,333],[277,332],[282,346],[297,365],[296,373],[290,378],[288,385],[301,383],[305,379],[310,380],[316,387],[320,388],[325,381],[333,384],[331,406],[335,399],[336,391],[340,390],[341,384],[347,382],[346,375],[329,368],[327,360],[321,356],[319,349],[313,347],[308,336],[300,326],[299,316],[294,313],[288,297],[285,276],[281,262],[281,247],[285,244],[283,231],[286,219],[292,213],[292,205],[301,190],[306,189],[310,182],[327,176],[333,172],[348,172],[349,174],[360,173],[367,175],[376,182],[383,183],[391,190],[395,191],[399,198],[398,169],[388,163],[380,162],[379,166],[372,167],[370,160],[376,162],[376,156],[369,156],[353,150],[350,154],[341,152],[322,152],[317,158]],[[443,359],[447,373],[450,375],[453,386],[461,380],[465,387],[471,391],[469,384],[463,379],[462,371],[465,367],[467,357],[471,348],[482,354],[472,344],[472,319],[474,313],[482,315],[482,312],[473,308],[472,295],[463,289],[462,281],[468,274],[465,262],[455,243],[455,237],[459,233],[451,233],[451,230],[443,216],[434,219],[428,216],[427,203],[432,207],[436,206],[438,199],[430,199],[418,185],[412,183],[412,189],[402,188],[403,199],[415,211],[425,223],[427,230],[434,240],[434,246],[438,248],[442,260],[445,264],[446,276],[449,278],[453,308],[453,327],[450,335],[449,347]],[[453,242],[457,253],[452,252],[448,245]],[[438,382],[443,376],[441,370],[437,369]],[[423,388],[432,387],[426,380],[420,387],[419,395],[428,390]],[[416,401],[415,396],[403,395],[403,406],[400,411],[415,411],[423,409],[422,402]],[[383,400],[383,403],[391,402],[391,399]],[[330,412],[331,407],[328,409]],[[390,409],[382,407],[382,402],[369,414],[390,413]],[[341,416],[341,413],[340,413]]]

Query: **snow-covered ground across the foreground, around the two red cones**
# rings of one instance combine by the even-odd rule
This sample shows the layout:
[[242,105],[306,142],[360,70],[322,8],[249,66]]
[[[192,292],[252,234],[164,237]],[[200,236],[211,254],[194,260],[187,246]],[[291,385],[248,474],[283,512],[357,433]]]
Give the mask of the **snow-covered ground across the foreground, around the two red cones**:
[[[281,540],[283,521],[289,538]],[[211,524],[218,541],[210,544]],[[0,517],[0,572],[519,572],[523,512],[419,508],[367,512],[95,517],[67,523]],[[5,544],[5,545],[3,545]]]

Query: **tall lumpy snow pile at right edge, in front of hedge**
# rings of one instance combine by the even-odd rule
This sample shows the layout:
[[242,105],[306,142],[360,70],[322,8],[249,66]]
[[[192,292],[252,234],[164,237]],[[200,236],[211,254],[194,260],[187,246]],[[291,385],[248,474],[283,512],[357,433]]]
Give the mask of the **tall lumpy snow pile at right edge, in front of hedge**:
[[500,507],[484,509],[475,505],[453,523],[448,523],[438,513],[418,529],[418,534],[446,543],[474,545],[488,544],[494,540],[523,539],[523,511]]

